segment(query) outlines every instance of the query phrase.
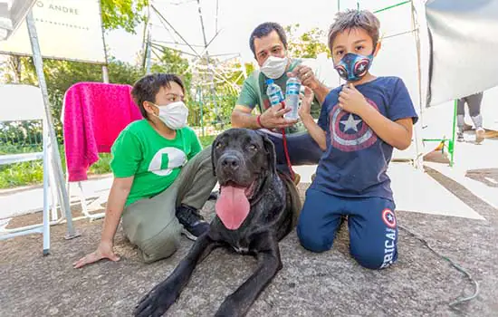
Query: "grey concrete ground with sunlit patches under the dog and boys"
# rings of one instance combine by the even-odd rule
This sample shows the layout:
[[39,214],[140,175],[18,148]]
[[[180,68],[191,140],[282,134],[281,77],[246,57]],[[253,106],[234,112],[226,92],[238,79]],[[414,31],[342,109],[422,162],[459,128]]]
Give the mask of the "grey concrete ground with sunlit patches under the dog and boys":
[[[383,271],[356,264],[349,255],[347,226],[333,248],[320,255],[304,250],[294,230],[280,243],[282,271],[248,316],[498,316],[498,139],[477,146],[472,132],[465,138],[469,141],[457,144],[454,168],[426,162],[426,173],[406,163],[389,169],[401,226],[397,264]],[[303,194],[312,168],[299,172]],[[212,202],[203,213],[214,215]],[[81,216],[76,206],[73,214]],[[38,221],[39,213],[17,216],[8,226]],[[52,227],[51,254],[45,257],[40,235],[0,241],[0,316],[129,316],[192,245],[184,238],[171,258],[141,264],[119,232],[119,262],[74,270],[72,262],[96,247],[102,221],[74,224],[81,236],[68,241],[63,225]],[[474,283],[412,233],[472,275],[479,283],[474,300],[449,306],[472,295]],[[198,265],[167,315],[212,316],[255,265],[252,257],[216,250]]]

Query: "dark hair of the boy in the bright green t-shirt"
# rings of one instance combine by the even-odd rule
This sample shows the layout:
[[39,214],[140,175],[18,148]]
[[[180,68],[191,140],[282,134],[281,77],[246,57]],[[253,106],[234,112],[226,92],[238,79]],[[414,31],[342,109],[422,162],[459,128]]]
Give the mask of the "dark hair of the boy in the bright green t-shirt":
[[148,115],[143,105],[144,101],[156,103],[156,95],[161,87],[171,88],[169,82],[177,82],[182,88],[183,93],[185,93],[185,87],[182,80],[172,73],[152,73],[140,78],[139,81],[135,82],[135,85],[133,85],[131,96],[133,97],[133,101],[139,106],[139,110],[145,119],[148,119]]

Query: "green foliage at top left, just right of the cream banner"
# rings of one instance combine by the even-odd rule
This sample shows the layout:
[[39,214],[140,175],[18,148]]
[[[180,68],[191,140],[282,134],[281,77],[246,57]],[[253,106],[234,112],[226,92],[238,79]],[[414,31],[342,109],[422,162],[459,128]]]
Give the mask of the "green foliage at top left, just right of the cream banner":
[[136,34],[137,24],[145,21],[148,0],[101,0],[102,26],[105,30],[123,28]]

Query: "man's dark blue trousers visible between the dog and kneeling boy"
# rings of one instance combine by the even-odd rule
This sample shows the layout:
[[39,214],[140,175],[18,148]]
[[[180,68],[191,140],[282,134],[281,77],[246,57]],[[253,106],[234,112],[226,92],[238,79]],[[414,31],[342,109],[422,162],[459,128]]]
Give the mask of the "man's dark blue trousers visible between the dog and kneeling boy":
[[[282,134],[274,133],[269,130],[259,130],[272,140],[275,146],[275,154],[277,159],[277,169],[283,173],[289,173],[287,167],[287,159],[283,149]],[[300,165],[316,165],[318,164],[323,151],[309,133],[296,133],[286,135],[287,149],[289,151],[289,159],[292,166]]]

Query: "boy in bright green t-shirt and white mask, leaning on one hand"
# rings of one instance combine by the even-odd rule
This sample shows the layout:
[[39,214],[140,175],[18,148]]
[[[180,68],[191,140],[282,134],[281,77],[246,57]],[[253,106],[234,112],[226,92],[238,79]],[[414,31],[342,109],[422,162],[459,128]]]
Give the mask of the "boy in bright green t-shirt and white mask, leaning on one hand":
[[131,94],[145,119],[130,123],[112,146],[114,181],[101,243],[75,268],[120,259],[112,247],[121,217],[124,234],[146,263],[172,255],[180,233],[196,239],[209,228],[198,209],[216,183],[211,149],[202,150],[186,126],[183,83],[173,74],[151,74]]

